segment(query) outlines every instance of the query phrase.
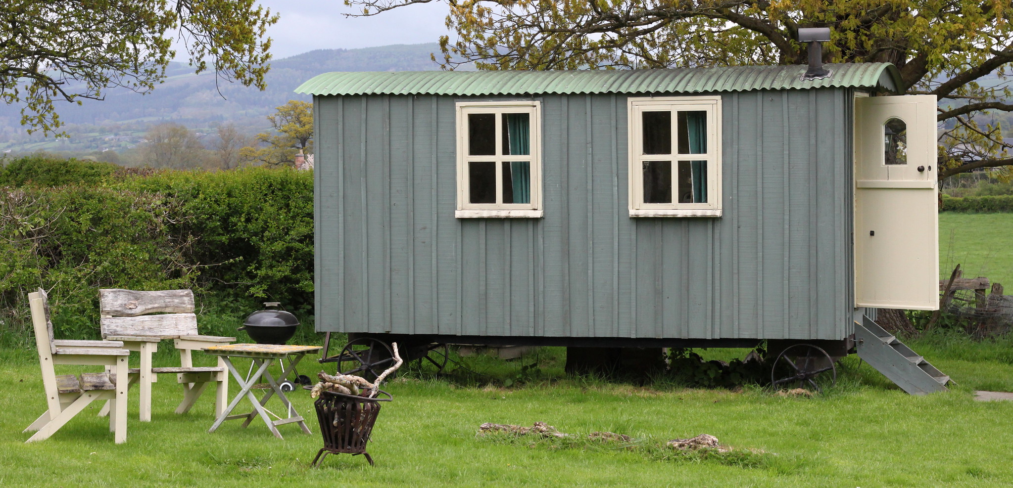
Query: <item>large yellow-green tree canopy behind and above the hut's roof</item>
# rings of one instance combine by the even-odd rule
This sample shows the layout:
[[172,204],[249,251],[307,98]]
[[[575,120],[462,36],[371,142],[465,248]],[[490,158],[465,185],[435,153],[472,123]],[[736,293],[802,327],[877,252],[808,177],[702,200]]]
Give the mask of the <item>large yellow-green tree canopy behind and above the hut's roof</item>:
[[[441,0],[346,0],[376,15]],[[805,64],[800,27],[830,27],[831,63],[889,62],[940,100],[940,178],[1013,164],[994,113],[1013,111],[1009,0],[448,1],[443,66],[487,70]],[[994,76],[995,75],[995,76]],[[998,79],[996,78],[998,76]]]

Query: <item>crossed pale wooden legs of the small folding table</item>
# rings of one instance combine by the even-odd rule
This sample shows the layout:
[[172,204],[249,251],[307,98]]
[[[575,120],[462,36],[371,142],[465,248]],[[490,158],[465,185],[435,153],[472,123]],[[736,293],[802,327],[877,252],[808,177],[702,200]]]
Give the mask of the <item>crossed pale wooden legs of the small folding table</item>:
[[[303,419],[302,415],[299,415],[298,412],[295,411],[295,409],[292,407],[291,402],[289,402],[289,399],[286,398],[285,392],[283,392],[281,387],[279,386],[280,382],[286,381],[289,378],[289,375],[296,370],[296,364],[299,363],[300,359],[302,359],[304,355],[306,355],[305,352],[296,354],[285,354],[279,357],[250,357],[250,359],[253,361],[253,365],[256,368],[256,371],[253,373],[253,375],[249,377],[249,379],[245,379],[243,378],[243,375],[240,374],[238,370],[236,370],[235,364],[232,363],[232,357],[229,355],[221,354],[222,358],[225,359],[226,368],[228,368],[229,371],[232,372],[232,378],[235,378],[236,383],[239,384],[239,393],[236,395],[235,398],[232,399],[232,402],[229,403],[229,406],[225,408],[225,411],[222,413],[222,415],[218,417],[218,419],[215,420],[215,423],[211,426],[211,428],[208,431],[214,432],[216,429],[218,429],[218,427],[222,424],[222,422],[226,420],[234,420],[237,418],[245,418],[246,420],[243,421],[243,427],[246,427],[250,424],[251,421],[253,421],[253,418],[255,416],[259,415],[260,418],[263,419],[264,423],[267,424],[267,428],[270,429],[271,433],[274,433],[275,436],[278,438],[282,438],[282,434],[278,431],[278,425],[283,425],[286,423],[298,423],[299,426],[302,427],[303,432],[310,433],[309,427],[306,426],[306,421]],[[247,356],[239,356],[239,357],[247,357]],[[288,357],[289,359],[288,361],[284,360],[286,357]],[[275,379],[275,377],[270,375],[270,373],[267,372],[267,367],[274,363],[276,359],[283,359],[282,361],[280,361],[282,364],[282,375],[277,380]],[[286,367],[286,362],[288,362],[288,367]],[[253,386],[257,383],[257,381],[261,377],[267,380],[267,384],[270,386],[270,389],[267,390],[267,393],[264,394],[264,396],[260,400],[257,400],[256,396],[253,394],[253,392],[250,391],[250,389],[253,388]],[[281,416],[276,415],[274,412],[264,408],[264,404],[267,403],[267,400],[270,399],[270,397],[275,394],[278,394],[278,398],[279,400],[282,401],[282,404],[285,406],[287,414],[291,416],[287,418],[282,418]],[[253,411],[242,415],[229,415],[230,413],[232,413],[232,410],[239,405],[239,402],[243,399],[243,397],[248,398],[250,403],[253,404]],[[270,415],[277,417],[278,420],[271,420]]]

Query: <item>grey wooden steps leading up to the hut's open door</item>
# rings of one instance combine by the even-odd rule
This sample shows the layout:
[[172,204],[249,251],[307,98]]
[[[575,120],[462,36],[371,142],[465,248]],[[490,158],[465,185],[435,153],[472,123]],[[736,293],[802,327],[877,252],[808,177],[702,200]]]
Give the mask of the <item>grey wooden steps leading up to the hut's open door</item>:
[[912,395],[947,391],[948,376],[868,317],[855,322],[855,347],[859,357]]

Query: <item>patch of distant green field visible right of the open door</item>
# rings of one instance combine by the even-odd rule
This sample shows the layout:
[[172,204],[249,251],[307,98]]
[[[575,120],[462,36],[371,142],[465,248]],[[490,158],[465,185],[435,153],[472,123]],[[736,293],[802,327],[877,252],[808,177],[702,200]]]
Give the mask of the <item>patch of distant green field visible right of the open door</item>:
[[939,214],[939,278],[957,263],[964,277],[985,276],[1013,294],[1013,214]]

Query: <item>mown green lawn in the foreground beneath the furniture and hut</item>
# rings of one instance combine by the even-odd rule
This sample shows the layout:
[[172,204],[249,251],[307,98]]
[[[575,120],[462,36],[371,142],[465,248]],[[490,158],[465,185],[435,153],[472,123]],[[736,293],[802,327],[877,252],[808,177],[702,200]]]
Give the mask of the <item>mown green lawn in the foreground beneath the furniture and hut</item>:
[[[45,409],[38,365],[26,352],[0,351],[0,484],[5,486],[1009,486],[1013,468],[1013,402],[975,402],[981,387],[1013,391],[1009,341],[975,345],[932,336],[916,341],[959,383],[948,393],[913,397],[856,356],[840,364],[839,384],[814,398],[782,398],[758,388],[692,390],[663,381],[634,386],[560,374],[561,354],[548,350],[521,361],[467,358],[466,365],[502,383],[522,364],[538,374],[513,388],[469,381],[401,378],[387,385],[370,443],[377,466],[362,457],[329,455],[309,464],[321,445],[318,426],[303,434],[280,427],[276,439],[259,420],[246,429],[226,422],[215,433],[213,401],[172,413],[181,396],[168,377],[155,384],[152,422],[137,421],[131,397],[128,440],[112,442],[95,409],[53,437],[24,443],[21,433]],[[741,350],[703,351],[731,357]],[[168,360],[158,356],[156,362]],[[312,371],[311,359],[304,373]],[[156,364],[159,365],[159,364]],[[235,392],[235,383],[231,388]],[[291,394],[313,415],[308,392]],[[248,404],[241,404],[248,405]],[[277,407],[278,403],[274,406]],[[271,404],[268,404],[270,408]],[[245,408],[248,408],[245,407]],[[276,408],[275,411],[281,409]],[[700,433],[735,448],[764,450],[744,465],[698,458],[661,458],[625,449],[568,449],[558,443],[502,442],[476,437],[482,422],[546,421],[587,434],[609,430],[658,442]]]

